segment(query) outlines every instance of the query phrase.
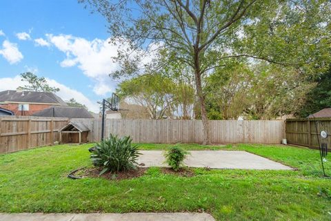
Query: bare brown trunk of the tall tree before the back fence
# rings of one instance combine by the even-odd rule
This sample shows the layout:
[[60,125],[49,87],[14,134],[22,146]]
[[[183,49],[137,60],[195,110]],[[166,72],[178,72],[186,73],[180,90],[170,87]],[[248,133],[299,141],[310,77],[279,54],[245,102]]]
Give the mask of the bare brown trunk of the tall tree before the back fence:
[[201,73],[199,73],[199,70],[195,70],[195,85],[197,87],[197,97],[199,99],[201,119],[203,124],[203,145],[212,144],[207,111],[205,110],[205,95],[203,95],[202,91]]

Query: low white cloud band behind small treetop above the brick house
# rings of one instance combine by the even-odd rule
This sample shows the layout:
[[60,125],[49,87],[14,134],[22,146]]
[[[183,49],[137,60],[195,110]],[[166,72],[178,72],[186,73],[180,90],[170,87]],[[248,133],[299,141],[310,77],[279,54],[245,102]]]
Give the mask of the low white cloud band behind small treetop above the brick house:
[[[96,113],[99,112],[99,104],[96,102],[92,102],[88,97],[83,95],[83,93],[79,92],[78,90],[74,90],[65,86],[64,84],[60,84],[59,82],[55,81],[54,79],[46,78],[48,84],[53,87],[60,88],[60,91],[57,92],[57,95],[61,97],[64,101],[69,100],[70,98],[74,97],[77,102],[81,104],[85,104],[90,111],[94,111]],[[2,90],[16,90],[19,86],[23,86],[24,83],[21,81],[21,76],[17,75],[15,77],[3,77],[0,78],[0,91]]]

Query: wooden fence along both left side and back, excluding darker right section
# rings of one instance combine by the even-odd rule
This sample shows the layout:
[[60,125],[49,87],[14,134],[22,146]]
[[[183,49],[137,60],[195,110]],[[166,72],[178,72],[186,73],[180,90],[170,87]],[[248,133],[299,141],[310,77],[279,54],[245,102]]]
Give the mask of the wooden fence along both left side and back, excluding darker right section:
[[[57,117],[1,117],[0,153],[20,151],[35,146],[52,145],[59,141],[59,129],[69,119]],[[100,119],[71,119],[90,129],[88,140],[101,140]],[[214,144],[260,143],[279,144],[285,137],[285,123],[281,120],[211,120]],[[201,120],[107,119],[105,137],[112,134],[130,135],[137,143],[201,143]]]

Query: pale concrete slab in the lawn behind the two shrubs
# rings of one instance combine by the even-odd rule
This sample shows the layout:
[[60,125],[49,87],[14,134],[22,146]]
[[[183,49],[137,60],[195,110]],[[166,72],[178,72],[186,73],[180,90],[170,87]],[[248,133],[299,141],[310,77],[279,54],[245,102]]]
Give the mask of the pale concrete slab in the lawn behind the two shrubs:
[[[166,166],[163,151],[139,151],[139,164]],[[257,169],[292,170],[279,162],[245,151],[189,151],[185,165],[190,167],[210,167],[211,169]]]

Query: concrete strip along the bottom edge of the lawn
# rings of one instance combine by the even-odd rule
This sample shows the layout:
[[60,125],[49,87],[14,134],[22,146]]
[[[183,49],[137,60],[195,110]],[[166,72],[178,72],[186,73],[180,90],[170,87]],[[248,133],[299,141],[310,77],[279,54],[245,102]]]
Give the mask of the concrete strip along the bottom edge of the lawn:
[[1,221],[214,221],[208,213],[0,213]]

